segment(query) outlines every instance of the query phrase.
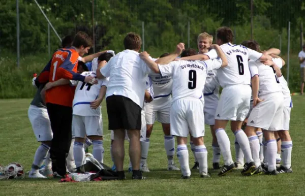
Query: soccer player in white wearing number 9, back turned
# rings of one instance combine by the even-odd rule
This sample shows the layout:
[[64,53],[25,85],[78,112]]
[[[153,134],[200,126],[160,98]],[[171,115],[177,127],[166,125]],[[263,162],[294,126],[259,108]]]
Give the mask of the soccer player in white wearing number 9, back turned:
[[[203,143],[203,88],[208,70],[219,69],[227,65],[226,57],[219,46],[214,47],[221,59],[207,61],[178,60],[159,65],[150,60],[146,52],[140,54],[147,66],[155,73],[160,73],[161,76],[172,76],[173,78],[173,101],[170,112],[171,135],[177,137],[177,156],[183,179],[191,177],[187,148],[189,129],[196,146],[195,153],[199,162],[200,176],[210,177],[207,172],[207,150]],[[195,49],[187,49],[181,53],[181,57],[195,54],[197,54]]]

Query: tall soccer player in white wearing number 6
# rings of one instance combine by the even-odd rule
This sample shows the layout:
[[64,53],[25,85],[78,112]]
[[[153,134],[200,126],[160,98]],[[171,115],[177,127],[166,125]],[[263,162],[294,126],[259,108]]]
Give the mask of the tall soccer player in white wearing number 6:
[[[231,121],[231,130],[246,158],[246,164],[241,174],[248,174],[255,167],[251,156],[250,145],[247,135],[241,129],[250,104],[251,87],[248,59],[267,60],[271,56],[256,52],[245,46],[233,45],[233,31],[228,27],[217,29],[217,44],[228,59],[228,66],[218,70],[220,85],[223,87],[220,100],[216,110],[215,126],[217,141],[224,158],[225,165],[221,168],[219,176],[235,170],[232,160],[231,145],[225,132],[228,121]],[[189,60],[202,59],[204,55],[196,55]]]

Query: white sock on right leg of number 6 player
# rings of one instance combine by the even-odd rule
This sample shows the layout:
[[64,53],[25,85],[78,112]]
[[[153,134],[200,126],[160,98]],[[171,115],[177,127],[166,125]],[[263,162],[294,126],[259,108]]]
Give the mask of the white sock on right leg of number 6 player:
[[235,132],[234,135],[242,150],[243,155],[245,156],[246,162],[249,164],[249,162],[253,161],[253,158],[251,155],[250,144],[246,133],[243,132],[242,129],[240,129],[237,130],[237,132]]

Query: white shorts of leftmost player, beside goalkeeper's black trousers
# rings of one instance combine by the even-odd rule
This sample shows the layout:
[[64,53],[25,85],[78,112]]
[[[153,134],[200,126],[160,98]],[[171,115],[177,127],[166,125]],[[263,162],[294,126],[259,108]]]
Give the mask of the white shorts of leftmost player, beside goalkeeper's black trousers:
[[34,134],[38,142],[51,141],[53,133],[46,108],[30,105],[27,111],[28,119],[32,124]]

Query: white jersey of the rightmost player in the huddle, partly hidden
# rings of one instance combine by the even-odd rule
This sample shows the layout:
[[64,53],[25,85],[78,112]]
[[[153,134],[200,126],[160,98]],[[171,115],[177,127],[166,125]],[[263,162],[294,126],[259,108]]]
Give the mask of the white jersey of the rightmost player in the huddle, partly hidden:
[[[272,61],[277,64],[277,66],[281,69],[283,67],[283,61],[281,58],[272,58]],[[284,96],[284,106],[292,108],[292,99],[290,95],[290,90],[288,88],[287,81],[285,80],[284,76],[282,75],[279,77],[279,81],[282,87],[282,93]]]

